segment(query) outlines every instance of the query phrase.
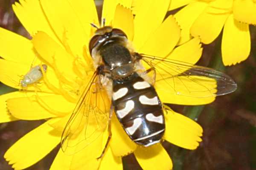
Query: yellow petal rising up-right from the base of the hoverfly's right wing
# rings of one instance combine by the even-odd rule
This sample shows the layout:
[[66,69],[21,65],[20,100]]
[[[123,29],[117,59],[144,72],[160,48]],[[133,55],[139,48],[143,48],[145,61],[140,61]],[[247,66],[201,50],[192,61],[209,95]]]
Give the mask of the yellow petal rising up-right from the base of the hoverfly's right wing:
[[180,27],[172,15],[170,15],[148,38],[138,51],[142,54],[166,57],[177,45],[180,39]]

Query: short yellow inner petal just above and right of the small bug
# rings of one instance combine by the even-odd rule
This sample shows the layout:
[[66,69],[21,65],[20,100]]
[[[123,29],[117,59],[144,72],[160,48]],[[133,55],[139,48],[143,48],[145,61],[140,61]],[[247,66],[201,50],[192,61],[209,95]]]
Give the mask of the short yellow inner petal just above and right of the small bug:
[[46,33],[39,31],[32,40],[35,50],[40,57],[52,68],[58,69],[64,76],[75,79],[73,72],[74,58],[67,53],[58,43],[56,43]]

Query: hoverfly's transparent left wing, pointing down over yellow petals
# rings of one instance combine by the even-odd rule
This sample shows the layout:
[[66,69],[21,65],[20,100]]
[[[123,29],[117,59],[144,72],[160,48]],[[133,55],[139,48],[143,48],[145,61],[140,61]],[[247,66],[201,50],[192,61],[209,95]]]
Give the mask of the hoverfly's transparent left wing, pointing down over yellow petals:
[[61,149],[72,155],[102,136],[108,125],[110,101],[93,74],[73,110],[61,136]]

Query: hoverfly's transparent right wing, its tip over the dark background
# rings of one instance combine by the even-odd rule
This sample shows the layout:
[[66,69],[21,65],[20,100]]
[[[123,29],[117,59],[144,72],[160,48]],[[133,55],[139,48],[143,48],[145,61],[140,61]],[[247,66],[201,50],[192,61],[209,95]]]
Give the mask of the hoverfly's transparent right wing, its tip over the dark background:
[[155,69],[155,84],[166,93],[201,98],[229,94],[237,88],[232,78],[212,68],[145,54],[138,55],[146,69]]

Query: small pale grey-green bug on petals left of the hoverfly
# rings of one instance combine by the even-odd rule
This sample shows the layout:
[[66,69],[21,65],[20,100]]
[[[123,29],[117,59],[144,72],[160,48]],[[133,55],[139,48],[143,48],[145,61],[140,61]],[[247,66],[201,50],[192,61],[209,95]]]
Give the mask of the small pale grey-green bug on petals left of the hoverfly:
[[[43,71],[47,71],[47,65],[42,64]],[[26,88],[28,85],[31,85],[35,82],[38,82],[43,77],[43,73],[41,70],[40,65],[36,65],[35,67],[32,67],[27,74],[23,76],[23,78],[20,80],[20,86],[22,88]]]

